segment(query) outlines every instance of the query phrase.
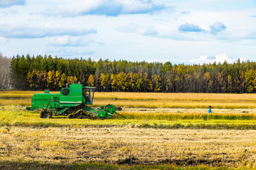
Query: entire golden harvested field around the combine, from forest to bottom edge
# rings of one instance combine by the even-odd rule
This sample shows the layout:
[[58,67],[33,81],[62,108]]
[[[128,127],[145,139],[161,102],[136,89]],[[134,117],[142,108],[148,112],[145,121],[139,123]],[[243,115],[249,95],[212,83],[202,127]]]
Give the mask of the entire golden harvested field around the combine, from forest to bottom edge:
[[256,94],[95,93],[123,110],[89,120],[40,119],[34,93],[0,92],[0,170],[256,169]]

